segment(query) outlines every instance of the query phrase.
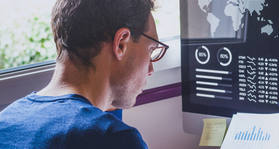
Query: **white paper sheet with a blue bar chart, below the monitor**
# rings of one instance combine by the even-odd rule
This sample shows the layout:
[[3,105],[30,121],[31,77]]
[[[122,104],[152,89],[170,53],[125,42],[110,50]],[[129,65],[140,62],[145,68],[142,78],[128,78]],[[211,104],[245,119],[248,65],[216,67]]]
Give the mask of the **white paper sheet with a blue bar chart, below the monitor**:
[[279,149],[279,114],[233,115],[221,149]]

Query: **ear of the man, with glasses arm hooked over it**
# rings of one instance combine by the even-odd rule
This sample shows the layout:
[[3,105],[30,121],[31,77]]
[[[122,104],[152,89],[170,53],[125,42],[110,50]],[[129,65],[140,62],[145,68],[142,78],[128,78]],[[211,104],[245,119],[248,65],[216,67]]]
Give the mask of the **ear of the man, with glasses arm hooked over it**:
[[124,53],[127,50],[127,44],[130,39],[130,35],[131,32],[128,28],[121,28],[115,34],[113,51],[118,60],[122,59]]

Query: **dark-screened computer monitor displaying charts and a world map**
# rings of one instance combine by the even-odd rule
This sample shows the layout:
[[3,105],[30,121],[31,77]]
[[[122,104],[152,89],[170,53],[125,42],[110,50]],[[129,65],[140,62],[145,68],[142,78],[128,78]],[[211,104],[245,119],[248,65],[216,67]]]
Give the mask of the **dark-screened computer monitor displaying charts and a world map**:
[[180,0],[183,127],[279,113],[279,1]]

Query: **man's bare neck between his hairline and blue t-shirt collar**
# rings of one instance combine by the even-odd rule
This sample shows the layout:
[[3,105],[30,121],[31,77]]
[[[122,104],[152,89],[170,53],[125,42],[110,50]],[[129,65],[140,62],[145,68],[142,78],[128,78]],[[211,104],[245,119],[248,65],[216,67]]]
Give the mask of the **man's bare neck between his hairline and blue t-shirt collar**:
[[100,71],[90,72],[88,75],[90,76],[85,77],[70,62],[58,63],[51,82],[36,94],[40,96],[79,94],[87,98],[93,106],[106,111],[112,102],[109,97],[109,78],[106,73]]

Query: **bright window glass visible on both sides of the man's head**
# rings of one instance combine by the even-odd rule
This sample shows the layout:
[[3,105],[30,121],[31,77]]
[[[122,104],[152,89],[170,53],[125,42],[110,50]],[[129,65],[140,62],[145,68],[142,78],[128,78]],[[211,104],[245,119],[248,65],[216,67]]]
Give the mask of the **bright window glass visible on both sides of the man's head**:
[[[56,0],[0,0],[0,70],[56,57],[50,13]],[[179,0],[157,0],[160,39],[180,35]]]

